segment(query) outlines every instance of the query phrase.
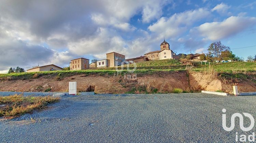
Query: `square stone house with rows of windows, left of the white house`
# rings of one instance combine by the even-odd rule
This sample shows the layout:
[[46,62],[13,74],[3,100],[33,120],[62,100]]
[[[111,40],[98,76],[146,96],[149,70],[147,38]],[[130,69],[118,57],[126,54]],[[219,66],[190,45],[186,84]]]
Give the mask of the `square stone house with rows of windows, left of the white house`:
[[89,59],[78,58],[78,59],[71,60],[69,64],[70,64],[70,70],[88,69]]

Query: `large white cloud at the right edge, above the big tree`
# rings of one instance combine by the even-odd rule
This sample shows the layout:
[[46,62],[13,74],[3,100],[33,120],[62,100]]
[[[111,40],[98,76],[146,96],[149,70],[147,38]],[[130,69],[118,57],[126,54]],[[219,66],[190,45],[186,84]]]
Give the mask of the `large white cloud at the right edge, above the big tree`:
[[203,23],[196,30],[210,40],[219,40],[235,35],[248,27],[254,26],[255,17],[231,16],[222,22]]

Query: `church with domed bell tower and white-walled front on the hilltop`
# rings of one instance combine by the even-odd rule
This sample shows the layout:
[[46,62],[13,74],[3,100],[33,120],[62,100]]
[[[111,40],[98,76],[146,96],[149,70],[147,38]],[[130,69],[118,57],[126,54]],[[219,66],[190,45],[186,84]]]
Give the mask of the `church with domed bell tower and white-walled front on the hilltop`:
[[174,59],[175,53],[170,50],[170,45],[168,42],[163,39],[163,42],[160,44],[160,50],[152,51],[144,54],[149,60],[165,60],[165,59]]

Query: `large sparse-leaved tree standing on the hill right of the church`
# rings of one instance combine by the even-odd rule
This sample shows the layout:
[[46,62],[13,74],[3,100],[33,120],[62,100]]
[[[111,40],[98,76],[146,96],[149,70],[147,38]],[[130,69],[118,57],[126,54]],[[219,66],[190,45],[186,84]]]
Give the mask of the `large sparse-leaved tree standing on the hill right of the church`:
[[211,57],[221,60],[221,52],[222,51],[230,51],[228,46],[225,46],[221,43],[221,41],[214,42],[208,46],[208,52]]

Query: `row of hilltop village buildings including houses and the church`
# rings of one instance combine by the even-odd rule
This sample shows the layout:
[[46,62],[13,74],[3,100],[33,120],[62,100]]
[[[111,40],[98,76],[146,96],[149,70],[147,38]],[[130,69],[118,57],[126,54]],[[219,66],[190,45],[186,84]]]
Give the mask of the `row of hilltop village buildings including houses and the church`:
[[[143,56],[136,57],[136,58],[129,58],[125,59],[124,54],[120,54],[117,52],[110,52],[106,53],[106,59],[97,60],[95,63],[89,64],[89,59],[86,58],[77,58],[71,60],[69,63],[70,70],[83,70],[89,68],[107,68],[107,67],[115,67],[124,64],[131,64],[131,63],[139,63],[144,61],[153,61],[153,60],[167,60],[167,59],[180,59],[182,55],[186,56],[186,54],[180,53],[176,54],[170,49],[170,44],[163,40],[160,44],[160,50],[152,51],[145,53]],[[190,54],[191,59],[200,60],[199,53]],[[51,64],[51,65],[44,65],[44,66],[36,66],[30,69],[27,69],[27,72],[40,72],[40,71],[52,71],[52,70],[62,70],[63,68]]]

